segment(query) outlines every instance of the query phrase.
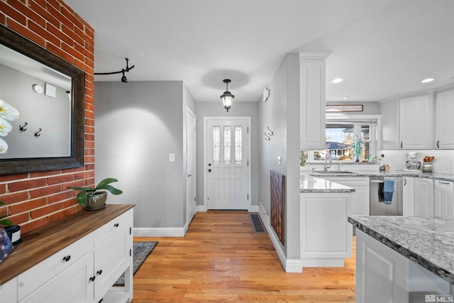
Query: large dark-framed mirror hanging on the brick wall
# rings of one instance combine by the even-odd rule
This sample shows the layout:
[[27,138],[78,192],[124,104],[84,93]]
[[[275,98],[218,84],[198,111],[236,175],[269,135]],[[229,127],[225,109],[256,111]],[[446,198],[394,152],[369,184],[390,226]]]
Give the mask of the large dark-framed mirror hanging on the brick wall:
[[84,165],[85,72],[0,26],[0,175]]

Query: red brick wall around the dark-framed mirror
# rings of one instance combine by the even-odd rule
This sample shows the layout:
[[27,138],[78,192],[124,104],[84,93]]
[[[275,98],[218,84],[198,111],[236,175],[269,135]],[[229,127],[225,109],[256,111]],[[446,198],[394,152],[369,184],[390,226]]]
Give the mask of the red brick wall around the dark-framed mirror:
[[0,176],[0,216],[27,233],[82,209],[68,186],[94,185],[94,31],[62,0],[0,0],[0,23],[86,72],[84,167]]

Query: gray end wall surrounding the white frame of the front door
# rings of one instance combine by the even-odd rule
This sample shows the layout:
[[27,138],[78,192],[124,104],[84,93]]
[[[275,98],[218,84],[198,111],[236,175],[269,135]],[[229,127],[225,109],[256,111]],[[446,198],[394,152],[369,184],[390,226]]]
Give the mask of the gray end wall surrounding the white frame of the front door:
[[258,102],[239,102],[234,101],[231,109],[226,111],[223,108],[221,99],[218,102],[197,102],[196,113],[196,170],[197,170],[197,205],[204,204],[204,117],[217,116],[250,116],[251,123],[251,175],[252,175],[252,192],[251,205],[258,205],[258,146],[262,137],[258,128]]

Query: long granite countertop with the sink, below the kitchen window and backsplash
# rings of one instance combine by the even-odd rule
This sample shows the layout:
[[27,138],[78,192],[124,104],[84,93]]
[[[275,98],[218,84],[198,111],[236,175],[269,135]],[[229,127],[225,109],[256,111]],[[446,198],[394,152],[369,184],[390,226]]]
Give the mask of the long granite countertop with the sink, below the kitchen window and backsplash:
[[404,170],[390,170],[389,172],[384,172],[384,170],[357,170],[352,174],[345,173],[336,174],[335,170],[333,170],[329,174],[324,174],[316,171],[308,173],[309,175],[314,177],[420,177],[432,180],[454,182],[454,175],[451,174],[441,174],[436,172],[404,172]]

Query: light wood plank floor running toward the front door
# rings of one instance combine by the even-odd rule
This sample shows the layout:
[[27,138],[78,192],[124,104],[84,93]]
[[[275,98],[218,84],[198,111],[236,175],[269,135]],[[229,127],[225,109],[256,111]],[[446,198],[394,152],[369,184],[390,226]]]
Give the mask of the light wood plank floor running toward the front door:
[[134,276],[133,303],[355,302],[355,246],[344,268],[287,273],[247,211],[197,213],[184,238],[158,241]]

